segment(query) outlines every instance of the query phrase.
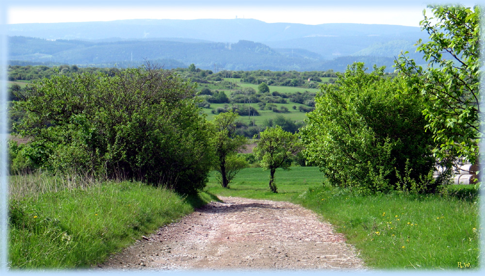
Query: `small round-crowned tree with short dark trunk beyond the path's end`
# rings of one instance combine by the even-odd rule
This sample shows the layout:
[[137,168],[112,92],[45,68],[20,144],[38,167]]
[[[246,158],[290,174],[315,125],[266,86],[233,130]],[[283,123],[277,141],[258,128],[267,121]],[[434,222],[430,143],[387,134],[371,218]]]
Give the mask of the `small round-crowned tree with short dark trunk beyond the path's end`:
[[[261,167],[270,170],[270,190],[277,193],[275,171],[278,168],[289,169],[292,158],[302,150],[298,135],[284,131],[281,126],[267,128],[260,134],[257,146],[253,149]],[[254,139],[258,138],[257,135]]]

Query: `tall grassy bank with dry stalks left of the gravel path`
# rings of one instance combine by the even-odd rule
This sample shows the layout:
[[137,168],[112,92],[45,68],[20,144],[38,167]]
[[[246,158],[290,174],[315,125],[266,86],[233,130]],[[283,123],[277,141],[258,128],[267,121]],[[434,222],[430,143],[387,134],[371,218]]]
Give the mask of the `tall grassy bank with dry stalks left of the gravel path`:
[[213,197],[182,198],[141,183],[104,183],[9,203],[9,267],[85,268]]

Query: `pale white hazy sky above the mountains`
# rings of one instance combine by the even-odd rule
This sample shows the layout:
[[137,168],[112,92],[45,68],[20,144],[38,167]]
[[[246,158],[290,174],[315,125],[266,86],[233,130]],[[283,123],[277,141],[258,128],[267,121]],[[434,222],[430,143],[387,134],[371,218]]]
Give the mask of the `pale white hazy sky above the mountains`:
[[6,3],[8,24],[238,17],[268,23],[419,26],[426,7],[423,0],[7,0]]

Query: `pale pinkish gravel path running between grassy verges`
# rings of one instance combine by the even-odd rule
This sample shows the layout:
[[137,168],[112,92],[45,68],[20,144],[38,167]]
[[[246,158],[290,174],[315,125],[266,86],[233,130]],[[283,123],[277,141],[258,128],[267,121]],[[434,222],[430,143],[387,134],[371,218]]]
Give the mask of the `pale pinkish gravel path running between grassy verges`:
[[366,270],[342,234],[289,202],[224,198],[112,256],[100,270]]

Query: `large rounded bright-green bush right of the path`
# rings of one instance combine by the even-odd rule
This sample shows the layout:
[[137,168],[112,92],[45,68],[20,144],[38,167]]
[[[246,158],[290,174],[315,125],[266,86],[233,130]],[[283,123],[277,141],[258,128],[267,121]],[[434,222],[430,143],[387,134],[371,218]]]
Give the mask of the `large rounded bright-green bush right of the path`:
[[[365,73],[354,63],[335,84],[322,86],[315,111],[308,113],[300,134],[305,155],[325,173],[330,183],[364,194],[410,190],[435,192],[435,181],[422,181],[434,165],[433,140],[424,132],[419,97],[399,97],[401,84],[383,77],[383,68]],[[407,185],[409,184],[409,185]]]

